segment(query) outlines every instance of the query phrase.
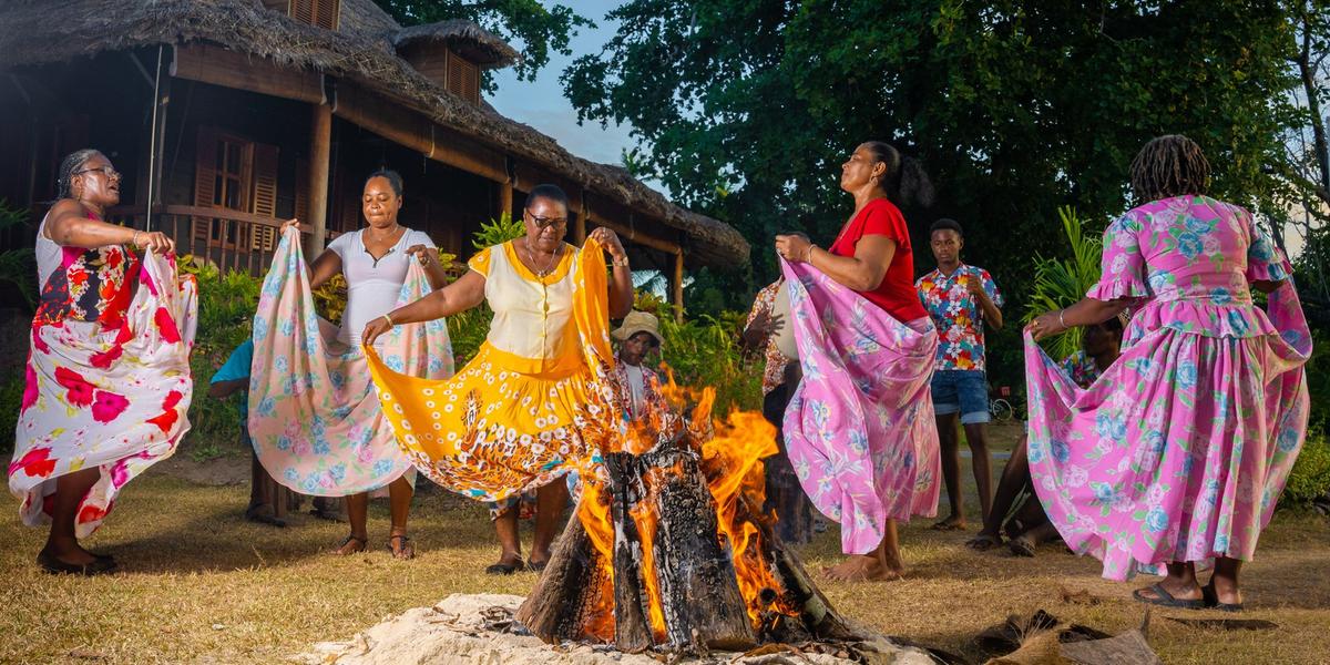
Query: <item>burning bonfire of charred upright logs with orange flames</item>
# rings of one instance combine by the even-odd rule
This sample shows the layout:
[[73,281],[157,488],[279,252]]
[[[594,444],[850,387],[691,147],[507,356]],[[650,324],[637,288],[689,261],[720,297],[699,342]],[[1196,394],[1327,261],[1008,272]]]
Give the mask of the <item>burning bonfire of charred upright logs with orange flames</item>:
[[602,464],[516,618],[551,644],[629,653],[855,640],[763,511],[775,428],[754,412],[713,419],[713,388],[670,376],[665,395],[676,414],[598,442]]

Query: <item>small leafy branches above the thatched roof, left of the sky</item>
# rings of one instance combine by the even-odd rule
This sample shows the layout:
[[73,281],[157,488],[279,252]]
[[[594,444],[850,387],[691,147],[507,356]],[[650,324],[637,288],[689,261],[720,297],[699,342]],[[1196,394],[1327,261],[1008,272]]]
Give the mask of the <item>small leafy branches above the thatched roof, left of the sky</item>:
[[[531,81],[547,63],[549,52],[568,55],[568,41],[591,20],[563,4],[545,8],[536,0],[375,0],[403,25],[467,19],[519,48],[517,78]],[[485,86],[492,89],[489,74]]]

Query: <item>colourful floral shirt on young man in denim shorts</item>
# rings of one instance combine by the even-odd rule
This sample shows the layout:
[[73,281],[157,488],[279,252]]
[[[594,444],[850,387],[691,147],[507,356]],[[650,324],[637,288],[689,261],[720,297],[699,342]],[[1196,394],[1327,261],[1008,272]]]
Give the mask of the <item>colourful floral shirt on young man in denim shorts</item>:
[[1003,297],[987,270],[962,263],[950,275],[934,270],[915,282],[932,323],[938,326],[938,360],[934,368],[984,371],[984,313],[966,285],[980,279],[984,293],[1001,307]]

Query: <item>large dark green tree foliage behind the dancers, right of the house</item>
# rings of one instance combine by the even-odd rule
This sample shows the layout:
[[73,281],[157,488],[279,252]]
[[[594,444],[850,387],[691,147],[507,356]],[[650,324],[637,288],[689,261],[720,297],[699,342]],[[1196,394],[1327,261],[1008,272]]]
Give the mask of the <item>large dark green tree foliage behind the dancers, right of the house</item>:
[[753,242],[758,281],[775,273],[774,233],[835,235],[853,209],[841,162],[861,141],[890,141],[938,186],[934,209],[904,210],[916,263],[932,262],[923,230],[954,217],[967,261],[1019,309],[1031,258],[1059,254],[1057,209],[1101,230],[1129,205],[1128,165],[1154,136],[1200,142],[1216,196],[1278,206],[1286,182],[1270,165],[1298,118],[1291,8],[629,0],[609,16],[617,35],[563,82],[583,120],[628,122],[648,148],[644,169]]

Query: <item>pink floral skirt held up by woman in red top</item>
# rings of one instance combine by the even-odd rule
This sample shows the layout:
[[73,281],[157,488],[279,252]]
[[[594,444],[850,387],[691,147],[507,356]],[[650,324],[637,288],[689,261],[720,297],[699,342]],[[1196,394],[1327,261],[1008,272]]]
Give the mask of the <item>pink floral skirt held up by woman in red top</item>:
[[902,323],[807,263],[785,263],[803,380],[785,446],[846,553],[871,552],[886,520],[938,512],[940,456],[928,380],[938,332]]

